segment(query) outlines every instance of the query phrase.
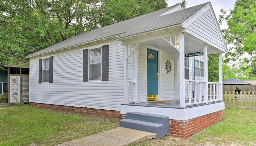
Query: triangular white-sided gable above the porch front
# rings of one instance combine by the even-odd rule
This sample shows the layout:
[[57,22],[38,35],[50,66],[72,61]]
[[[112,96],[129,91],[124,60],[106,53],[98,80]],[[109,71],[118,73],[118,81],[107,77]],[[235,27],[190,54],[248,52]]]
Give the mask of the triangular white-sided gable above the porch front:
[[210,2],[185,20],[182,26],[186,28],[186,32],[189,34],[223,52],[227,51],[220,26]]

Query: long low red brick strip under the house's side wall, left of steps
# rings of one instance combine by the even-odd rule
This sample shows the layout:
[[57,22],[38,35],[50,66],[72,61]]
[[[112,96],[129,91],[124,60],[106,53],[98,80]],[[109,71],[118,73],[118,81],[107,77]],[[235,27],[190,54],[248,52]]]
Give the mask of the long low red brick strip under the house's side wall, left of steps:
[[51,105],[51,104],[41,104],[41,103],[31,103],[31,105],[36,106],[36,107],[41,107],[41,108],[52,109],[52,110],[62,110],[62,111],[68,111],[68,112],[93,114],[93,115],[100,115],[100,116],[105,116],[105,117],[110,117],[110,118],[122,118],[122,114],[120,113],[120,111],[62,106],[62,105]]

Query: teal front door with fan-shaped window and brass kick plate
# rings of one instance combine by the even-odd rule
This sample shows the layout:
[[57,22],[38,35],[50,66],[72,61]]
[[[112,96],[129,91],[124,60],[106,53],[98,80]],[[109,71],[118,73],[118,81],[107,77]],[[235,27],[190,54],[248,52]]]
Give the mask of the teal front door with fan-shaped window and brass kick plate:
[[147,49],[148,101],[158,100],[158,52]]

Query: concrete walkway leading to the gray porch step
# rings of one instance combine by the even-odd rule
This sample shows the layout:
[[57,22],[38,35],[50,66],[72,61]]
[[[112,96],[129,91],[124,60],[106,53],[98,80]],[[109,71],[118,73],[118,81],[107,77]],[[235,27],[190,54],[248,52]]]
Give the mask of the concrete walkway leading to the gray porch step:
[[55,146],[127,146],[155,137],[155,133],[118,127]]

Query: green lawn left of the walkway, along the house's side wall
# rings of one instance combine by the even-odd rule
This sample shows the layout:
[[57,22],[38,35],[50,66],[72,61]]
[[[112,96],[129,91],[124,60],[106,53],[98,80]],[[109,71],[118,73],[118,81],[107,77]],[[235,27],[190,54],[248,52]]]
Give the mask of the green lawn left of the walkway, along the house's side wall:
[[55,145],[118,126],[118,119],[46,110],[30,105],[0,106],[1,146]]

